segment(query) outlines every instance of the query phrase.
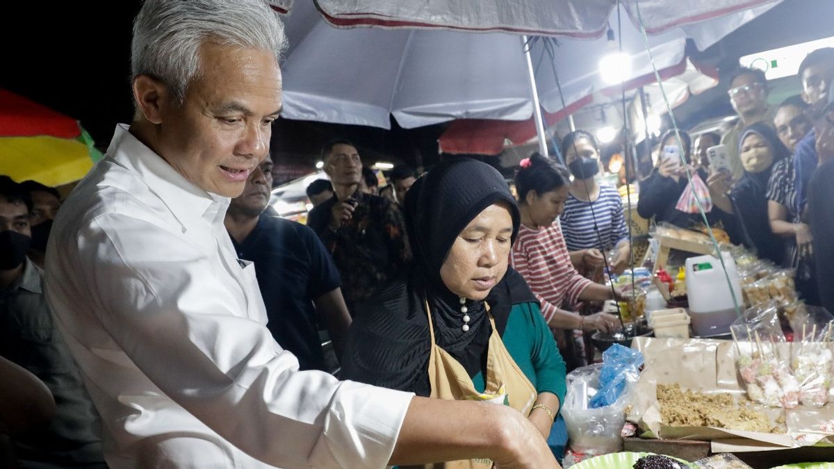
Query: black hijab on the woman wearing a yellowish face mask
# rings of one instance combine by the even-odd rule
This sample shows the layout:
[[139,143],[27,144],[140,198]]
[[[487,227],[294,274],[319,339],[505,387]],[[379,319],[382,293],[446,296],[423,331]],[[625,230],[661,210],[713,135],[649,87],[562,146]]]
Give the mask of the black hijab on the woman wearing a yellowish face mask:
[[776,162],[790,158],[791,151],[781,143],[776,131],[771,126],[760,122],[751,124],[741,132],[738,141],[738,153],[744,148],[744,140],[751,134],[756,134],[771,147],[773,163],[761,173],[751,173],[747,170],[731,191],[733,209],[736,219],[741,224],[741,235],[745,245],[755,248],[759,257],[781,264],[785,256],[785,241],[773,234],[769,217],[767,216],[767,188],[773,166]]

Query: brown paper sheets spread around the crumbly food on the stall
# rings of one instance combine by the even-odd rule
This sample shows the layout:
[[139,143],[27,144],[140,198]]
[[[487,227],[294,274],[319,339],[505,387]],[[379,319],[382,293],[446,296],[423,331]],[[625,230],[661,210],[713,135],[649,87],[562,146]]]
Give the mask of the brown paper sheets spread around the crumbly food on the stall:
[[[752,349],[750,342],[740,342]],[[736,345],[731,340],[655,339],[637,337],[632,345],[641,350],[646,367],[633,392],[628,420],[636,421],[650,436],[711,441],[714,452],[790,449],[815,444],[834,445],[834,404],[794,409],[751,404],[770,417],[783,432],[741,431],[717,426],[669,426],[661,418],[657,385],[678,384],[706,394],[727,393],[745,399],[744,382],[736,371]],[[791,355],[791,345],[774,345],[780,356]]]

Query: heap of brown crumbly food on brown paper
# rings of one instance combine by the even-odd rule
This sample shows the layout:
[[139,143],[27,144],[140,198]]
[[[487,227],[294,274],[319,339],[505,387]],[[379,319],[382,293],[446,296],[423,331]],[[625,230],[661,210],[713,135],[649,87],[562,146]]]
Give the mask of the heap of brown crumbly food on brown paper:
[[661,405],[661,419],[669,426],[715,426],[764,433],[783,431],[765,414],[748,406],[749,401],[736,403],[736,398],[726,392],[704,394],[681,390],[677,384],[659,384],[657,401]]

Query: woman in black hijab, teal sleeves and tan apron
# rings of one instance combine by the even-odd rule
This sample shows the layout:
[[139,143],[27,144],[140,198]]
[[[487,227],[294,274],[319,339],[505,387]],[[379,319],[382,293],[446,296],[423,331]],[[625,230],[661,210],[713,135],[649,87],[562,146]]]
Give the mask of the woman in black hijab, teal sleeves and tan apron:
[[535,296],[507,265],[519,224],[509,187],[488,164],[454,159],[417,179],[405,197],[413,264],[359,308],[341,377],[506,403],[548,436],[565,363]]

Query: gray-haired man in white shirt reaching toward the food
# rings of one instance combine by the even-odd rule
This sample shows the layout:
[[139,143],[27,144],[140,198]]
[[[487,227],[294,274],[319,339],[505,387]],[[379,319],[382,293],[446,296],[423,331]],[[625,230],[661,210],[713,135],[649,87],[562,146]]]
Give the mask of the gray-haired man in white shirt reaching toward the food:
[[46,295],[114,468],[557,467],[507,406],[298,371],[224,229],[269,152],[283,26],[263,0],[147,0],[133,123],[55,219]]

